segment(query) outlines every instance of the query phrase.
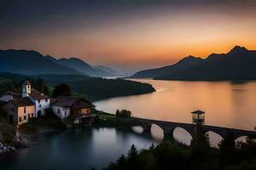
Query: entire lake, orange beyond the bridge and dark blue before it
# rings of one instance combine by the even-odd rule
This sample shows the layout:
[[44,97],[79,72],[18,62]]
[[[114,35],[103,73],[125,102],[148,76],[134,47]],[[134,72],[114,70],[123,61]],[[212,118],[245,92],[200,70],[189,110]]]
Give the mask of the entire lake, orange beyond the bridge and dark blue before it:
[[[191,122],[190,112],[202,110],[206,111],[208,125],[247,130],[256,126],[256,82],[136,81],[151,83],[157,91],[96,101],[96,109],[110,113],[127,109],[133,116],[172,122]],[[156,125],[151,133],[142,132],[142,127],[84,127],[40,134],[31,148],[0,157],[0,167],[5,170],[101,168],[127,154],[131,144],[141,150],[163,139]],[[179,142],[190,143],[191,137],[181,128],[173,135]],[[216,133],[209,135],[212,146],[216,147],[221,138]]]

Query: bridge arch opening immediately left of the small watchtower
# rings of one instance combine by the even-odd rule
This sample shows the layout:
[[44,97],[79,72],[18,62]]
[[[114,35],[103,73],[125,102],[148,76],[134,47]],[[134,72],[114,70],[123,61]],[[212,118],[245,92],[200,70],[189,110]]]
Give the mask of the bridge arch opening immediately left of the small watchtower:
[[172,131],[173,139],[178,143],[190,145],[193,139],[192,135],[183,127],[175,127]]

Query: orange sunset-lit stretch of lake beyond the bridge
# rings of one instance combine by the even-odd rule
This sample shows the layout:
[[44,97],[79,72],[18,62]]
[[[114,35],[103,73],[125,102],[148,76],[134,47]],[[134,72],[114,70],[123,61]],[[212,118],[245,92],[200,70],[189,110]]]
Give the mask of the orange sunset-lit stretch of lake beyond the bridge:
[[136,80],[156,88],[153,94],[97,101],[96,109],[133,116],[191,122],[191,111],[206,111],[206,124],[253,130],[256,126],[256,82],[180,82]]

